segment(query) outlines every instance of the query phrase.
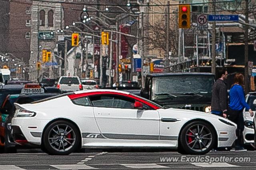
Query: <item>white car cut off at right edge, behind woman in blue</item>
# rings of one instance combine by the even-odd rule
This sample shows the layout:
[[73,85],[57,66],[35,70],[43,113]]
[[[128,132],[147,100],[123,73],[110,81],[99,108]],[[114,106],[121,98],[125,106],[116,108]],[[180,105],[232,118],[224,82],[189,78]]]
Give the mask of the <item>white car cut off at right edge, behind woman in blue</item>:
[[[246,95],[245,101],[247,104],[250,105],[250,108],[252,111],[254,111],[254,114],[256,113],[256,92],[250,92]],[[253,123],[253,117],[250,116],[250,113],[247,109],[244,109],[243,111],[244,115],[244,144],[250,145],[250,143],[254,143],[254,123]]]

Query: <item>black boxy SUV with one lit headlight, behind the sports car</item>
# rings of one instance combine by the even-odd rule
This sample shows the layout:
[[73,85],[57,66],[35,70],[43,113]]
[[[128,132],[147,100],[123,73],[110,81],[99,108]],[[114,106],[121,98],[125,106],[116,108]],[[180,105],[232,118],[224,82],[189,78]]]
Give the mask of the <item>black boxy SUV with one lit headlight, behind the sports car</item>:
[[210,112],[214,74],[147,74],[141,96],[163,107]]

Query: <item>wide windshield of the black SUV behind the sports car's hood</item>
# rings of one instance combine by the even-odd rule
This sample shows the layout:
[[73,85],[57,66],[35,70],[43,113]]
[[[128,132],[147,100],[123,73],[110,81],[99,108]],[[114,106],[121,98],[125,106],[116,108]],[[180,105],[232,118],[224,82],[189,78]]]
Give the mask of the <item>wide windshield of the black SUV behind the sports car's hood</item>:
[[200,94],[210,95],[214,76],[184,75],[154,79],[154,94]]

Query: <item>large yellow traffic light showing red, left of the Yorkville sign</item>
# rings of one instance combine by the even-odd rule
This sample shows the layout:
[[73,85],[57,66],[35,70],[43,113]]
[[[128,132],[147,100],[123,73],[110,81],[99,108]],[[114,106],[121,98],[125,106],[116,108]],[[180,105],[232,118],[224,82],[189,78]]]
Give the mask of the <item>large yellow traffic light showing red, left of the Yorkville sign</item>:
[[190,28],[190,5],[179,5],[179,28]]

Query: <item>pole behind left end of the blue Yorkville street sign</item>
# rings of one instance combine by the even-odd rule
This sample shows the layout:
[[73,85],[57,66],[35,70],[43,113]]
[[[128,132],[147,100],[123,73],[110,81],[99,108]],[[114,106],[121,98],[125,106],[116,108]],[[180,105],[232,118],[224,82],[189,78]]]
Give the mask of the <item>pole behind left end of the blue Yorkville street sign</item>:
[[[212,11],[214,15],[216,14],[216,0],[212,0]],[[216,75],[216,51],[215,51],[215,41],[216,41],[216,22],[212,23],[212,74]]]

